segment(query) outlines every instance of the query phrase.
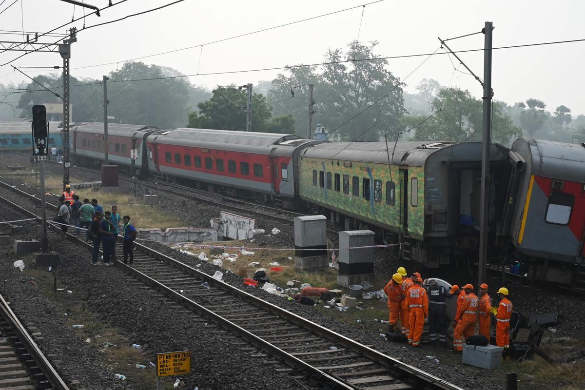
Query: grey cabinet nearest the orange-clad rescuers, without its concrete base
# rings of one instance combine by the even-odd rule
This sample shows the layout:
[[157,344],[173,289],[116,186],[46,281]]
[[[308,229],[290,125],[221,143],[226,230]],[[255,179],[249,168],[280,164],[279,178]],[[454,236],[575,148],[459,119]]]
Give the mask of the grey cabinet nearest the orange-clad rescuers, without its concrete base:
[[347,275],[374,272],[374,248],[344,249],[374,245],[371,230],[339,232],[339,273]]

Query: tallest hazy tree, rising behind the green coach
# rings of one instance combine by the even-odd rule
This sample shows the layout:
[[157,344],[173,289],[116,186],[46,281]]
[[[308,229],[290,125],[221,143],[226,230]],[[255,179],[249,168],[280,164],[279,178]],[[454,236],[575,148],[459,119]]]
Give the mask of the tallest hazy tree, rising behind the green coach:
[[406,112],[402,85],[387,70],[387,60],[372,60],[378,57],[374,53],[376,46],[377,42],[354,41],[345,51],[328,50],[321,73],[315,67],[287,68],[287,74],[279,74],[272,81],[270,100],[282,100],[274,103],[274,111],[292,114],[302,124],[297,132],[304,135],[308,121],[307,89],[295,88],[294,96],[290,89],[313,84],[315,123],[338,129],[339,139],[370,141],[378,140],[380,132],[397,133],[399,120]]

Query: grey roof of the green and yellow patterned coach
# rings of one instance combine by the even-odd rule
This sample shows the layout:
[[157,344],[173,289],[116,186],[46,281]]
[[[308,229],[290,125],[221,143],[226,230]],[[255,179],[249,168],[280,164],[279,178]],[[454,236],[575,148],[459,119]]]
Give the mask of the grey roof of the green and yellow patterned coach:
[[422,166],[433,152],[449,147],[449,142],[440,141],[404,141],[388,142],[329,142],[305,149],[303,157],[330,158],[333,160],[362,161],[364,163]]

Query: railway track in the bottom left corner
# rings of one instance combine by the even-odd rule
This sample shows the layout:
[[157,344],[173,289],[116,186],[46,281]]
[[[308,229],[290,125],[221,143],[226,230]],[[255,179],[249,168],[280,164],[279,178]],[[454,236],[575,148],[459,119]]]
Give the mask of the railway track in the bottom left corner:
[[0,295],[0,388],[68,390],[68,386],[2,295]]

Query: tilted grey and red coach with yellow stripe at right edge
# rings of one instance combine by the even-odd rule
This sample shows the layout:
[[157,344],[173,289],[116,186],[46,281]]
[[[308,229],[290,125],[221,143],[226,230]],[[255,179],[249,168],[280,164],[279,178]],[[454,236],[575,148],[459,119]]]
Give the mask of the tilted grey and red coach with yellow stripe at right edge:
[[585,145],[519,138],[510,167],[503,263],[585,291]]

